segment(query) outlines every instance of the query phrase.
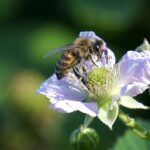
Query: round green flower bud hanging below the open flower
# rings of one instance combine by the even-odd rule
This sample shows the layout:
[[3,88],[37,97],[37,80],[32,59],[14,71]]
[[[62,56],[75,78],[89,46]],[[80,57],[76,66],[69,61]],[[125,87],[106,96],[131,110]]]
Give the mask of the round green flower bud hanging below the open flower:
[[99,142],[97,132],[92,128],[84,128],[73,131],[70,142],[74,150],[94,150]]

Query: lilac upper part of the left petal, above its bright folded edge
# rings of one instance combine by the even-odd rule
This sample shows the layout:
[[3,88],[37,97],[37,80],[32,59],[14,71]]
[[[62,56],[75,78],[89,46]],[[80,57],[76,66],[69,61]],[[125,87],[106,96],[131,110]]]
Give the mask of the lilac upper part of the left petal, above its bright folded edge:
[[73,87],[70,83],[66,82],[65,78],[57,80],[53,75],[41,84],[37,93],[47,96],[54,101],[58,100],[77,100],[82,101],[85,99],[85,94],[80,89]]

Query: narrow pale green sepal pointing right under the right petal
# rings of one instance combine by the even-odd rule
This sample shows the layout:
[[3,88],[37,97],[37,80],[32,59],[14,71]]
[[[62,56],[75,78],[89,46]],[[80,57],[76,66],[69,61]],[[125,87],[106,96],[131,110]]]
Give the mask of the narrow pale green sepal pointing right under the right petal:
[[129,96],[122,96],[119,103],[120,105],[131,109],[149,109],[148,106],[144,106],[142,103],[139,103],[134,98]]

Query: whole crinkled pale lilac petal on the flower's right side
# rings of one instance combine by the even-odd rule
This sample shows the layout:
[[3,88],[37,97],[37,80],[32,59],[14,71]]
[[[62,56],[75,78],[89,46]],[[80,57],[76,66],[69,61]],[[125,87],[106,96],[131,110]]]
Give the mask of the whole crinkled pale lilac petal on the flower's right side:
[[122,96],[134,97],[143,93],[150,85],[150,52],[128,51],[119,62],[119,76],[111,108]]

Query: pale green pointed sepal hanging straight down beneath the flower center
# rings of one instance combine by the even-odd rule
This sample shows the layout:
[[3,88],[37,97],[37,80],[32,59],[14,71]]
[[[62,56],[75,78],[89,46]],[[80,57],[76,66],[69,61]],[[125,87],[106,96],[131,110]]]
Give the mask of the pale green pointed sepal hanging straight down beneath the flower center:
[[113,109],[110,109],[110,104],[106,103],[101,106],[98,113],[98,118],[106,124],[110,129],[118,116],[119,107],[117,104],[114,105]]

